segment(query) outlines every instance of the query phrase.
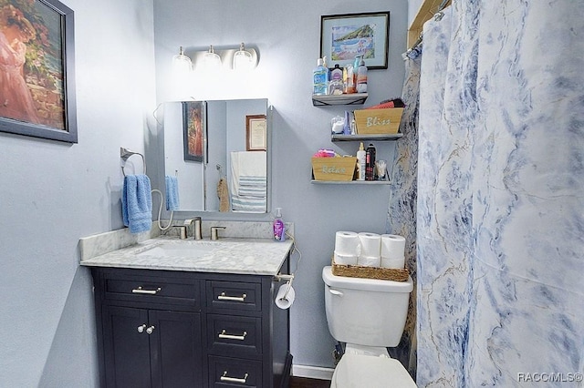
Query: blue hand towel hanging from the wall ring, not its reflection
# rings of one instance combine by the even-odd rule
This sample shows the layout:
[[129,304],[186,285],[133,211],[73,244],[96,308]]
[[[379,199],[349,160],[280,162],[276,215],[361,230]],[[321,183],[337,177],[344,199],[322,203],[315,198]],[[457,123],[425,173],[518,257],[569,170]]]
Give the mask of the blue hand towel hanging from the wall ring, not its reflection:
[[127,175],[121,193],[121,213],[130,233],[151,230],[152,196],[146,175]]

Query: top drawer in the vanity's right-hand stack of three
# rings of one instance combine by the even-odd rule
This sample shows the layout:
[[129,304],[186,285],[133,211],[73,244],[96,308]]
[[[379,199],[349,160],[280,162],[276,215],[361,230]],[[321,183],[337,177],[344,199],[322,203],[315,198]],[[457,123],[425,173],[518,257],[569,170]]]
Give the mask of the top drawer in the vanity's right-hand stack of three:
[[261,283],[207,281],[207,306],[229,311],[261,311],[261,291]]

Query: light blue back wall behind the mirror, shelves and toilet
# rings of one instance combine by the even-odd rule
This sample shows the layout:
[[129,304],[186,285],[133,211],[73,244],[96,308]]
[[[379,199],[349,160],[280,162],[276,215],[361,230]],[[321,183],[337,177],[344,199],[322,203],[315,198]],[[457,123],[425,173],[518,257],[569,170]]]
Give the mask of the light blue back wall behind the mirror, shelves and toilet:
[[[336,148],[340,153],[354,155],[359,146],[330,142],[329,120],[345,107],[312,106],[311,77],[319,55],[320,15],[377,11],[391,11],[389,68],[370,71],[367,105],[401,96],[404,78],[401,53],[406,49],[408,17],[406,0],[360,3],[154,0],[159,103],[179,97],[267,97],[275,107],[273,207],[283,208],[285,220],[295,223],[297,246],[302,251],[294,282],[297,299],[291,309],[295,364],[332,366],[330,353],[334,341],[328,333],[320,273],[330,262],[335,232],[386,231],[388,187],[310,183],[310,157],[318,148]],[[208,45],[237,46],[242,41],[260,52],[259,66],[249,80],[224,79],[228,81],[226,84],[210,84],[208,79],[195,77],[180,88],[173,83],[171,57],[179,46],[184,46],[188,54]],[[376,146],[384,158],[391,157],[391,143]],[[247,216],[247,219],[271,220],[271,217]],[[296,260],[292,269],[296,269]]]

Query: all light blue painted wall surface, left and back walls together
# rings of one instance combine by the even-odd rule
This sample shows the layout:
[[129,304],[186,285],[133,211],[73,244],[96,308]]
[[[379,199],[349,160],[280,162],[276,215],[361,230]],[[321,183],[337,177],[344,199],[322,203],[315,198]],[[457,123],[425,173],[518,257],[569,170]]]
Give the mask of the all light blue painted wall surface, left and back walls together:
[[[303,252],[291,310],[292,352],[296,363],[331,366],[320,271],[336,230],[385,231],[389,190],[309,183],[309,158],[317,148],[357,149],[330,143],[328,121],[343,108],[310,101],[320,15],[391,11],[390,68],[370,72],[373,104],[401,94],[406,1],[156,0],[153,9],[143,0],[64,3],[75,11],[79,142],[0,133],[0,386],[98,385],[91,279],[78,266],[78,239],[122,227],[120,146],[145,152],[153,184],[160,185],[161,143],[152,112],[176,99],[167,76],[178,46],[242,40],[260,50],[255,76],[213,90],[199,80],[186,92],[268,97],[276,108],[274,206],[296,223]],[[380,143],[378,150],[389,158],[392,146]]]

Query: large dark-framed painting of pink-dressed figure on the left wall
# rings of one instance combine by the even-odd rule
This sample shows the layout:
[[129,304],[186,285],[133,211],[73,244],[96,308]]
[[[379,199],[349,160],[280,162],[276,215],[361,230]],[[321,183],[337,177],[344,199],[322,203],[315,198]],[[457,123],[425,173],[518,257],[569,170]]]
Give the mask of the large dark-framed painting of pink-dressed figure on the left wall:
[[77,143],[73,11],[0,0],[0,131]]

